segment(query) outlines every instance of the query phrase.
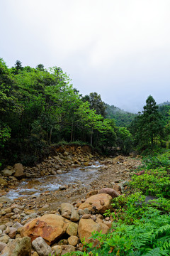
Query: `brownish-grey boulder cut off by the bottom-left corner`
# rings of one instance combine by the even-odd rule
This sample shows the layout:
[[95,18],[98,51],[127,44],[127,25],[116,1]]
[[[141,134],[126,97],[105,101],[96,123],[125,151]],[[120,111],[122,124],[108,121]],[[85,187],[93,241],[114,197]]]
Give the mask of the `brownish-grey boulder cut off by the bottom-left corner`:
[[4,247],[1,256],[30,256],[31,240],[30,238],[17,238]]

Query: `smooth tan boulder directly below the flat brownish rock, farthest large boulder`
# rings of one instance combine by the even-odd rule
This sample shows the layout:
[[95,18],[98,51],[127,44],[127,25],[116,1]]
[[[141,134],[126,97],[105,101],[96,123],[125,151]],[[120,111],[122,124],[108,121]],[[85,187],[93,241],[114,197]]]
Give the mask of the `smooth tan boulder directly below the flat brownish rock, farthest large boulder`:
[[100,193],[87,198],[84,203],[81,203],[79,209],[88,208],[89,210],[96,210],[98,213],[105,213],[111,208],[111,200],[112,197],[107,193]]

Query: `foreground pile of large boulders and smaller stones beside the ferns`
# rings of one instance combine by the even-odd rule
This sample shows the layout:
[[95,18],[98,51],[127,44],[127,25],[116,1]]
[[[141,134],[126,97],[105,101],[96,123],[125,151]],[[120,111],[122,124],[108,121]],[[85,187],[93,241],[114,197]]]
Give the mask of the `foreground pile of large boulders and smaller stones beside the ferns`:
[[[79,202],[62,203],[59,212],[53,214],[36,218],[36,214],[32,218],[23,214],[20,219],[15,216],[16,219],[0,225],[0,255],[48,256],[50,253],[64,255],[82,250],[83,238],[91,242],[91,232],[107,233],[111,228],[111,219],[104,218],[103,213],[111,209],[111,199],[116,196],[119,196],[117,191],[103,188],[90,191],[86,199]],[[13,204],[4,209],[4,213],[16,213],[22,217],[21,210],[23,208]]]

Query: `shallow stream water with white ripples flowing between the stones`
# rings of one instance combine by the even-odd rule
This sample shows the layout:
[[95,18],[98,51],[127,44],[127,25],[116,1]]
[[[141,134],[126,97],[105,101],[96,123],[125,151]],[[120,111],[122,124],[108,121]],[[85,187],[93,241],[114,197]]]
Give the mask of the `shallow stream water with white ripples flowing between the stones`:
[[96,178],[98,168],[100,168],[98,162],[91,166],[79,167],[72,169],[67,174],[57,174],[52,176],[44,176],[40,178],[28,179],[27,181],[22,181],[18,188],[11,190],[6,194],[8,198],[15,199],[22,196],[38,196],[40,193],[45,191],[57,191],[62,184],[76,185],[81,183],[82,186],[91,183],[91,181]]

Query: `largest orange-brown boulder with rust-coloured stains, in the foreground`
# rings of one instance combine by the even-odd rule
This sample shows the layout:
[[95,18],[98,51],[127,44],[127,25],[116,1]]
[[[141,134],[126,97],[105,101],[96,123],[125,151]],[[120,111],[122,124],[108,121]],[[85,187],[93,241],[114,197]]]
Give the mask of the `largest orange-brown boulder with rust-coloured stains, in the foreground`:
[[29,223],[26,223],[21,231],[21,236],[28,236],[32,241],[38,237],[42,237],[48,245],[51,245],[67,232],[70,223],[70,220],[60,215],[43,215],[40,218],[35,218],[30,220]]

